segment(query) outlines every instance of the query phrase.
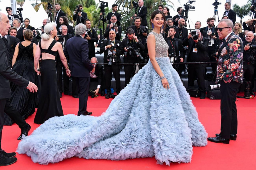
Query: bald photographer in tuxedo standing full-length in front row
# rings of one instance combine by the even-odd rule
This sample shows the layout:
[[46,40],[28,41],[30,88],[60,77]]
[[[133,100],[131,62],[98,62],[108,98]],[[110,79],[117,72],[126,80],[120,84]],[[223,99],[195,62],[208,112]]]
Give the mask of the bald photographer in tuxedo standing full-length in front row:
[[[107,97],[114,96],[111,94],[111,78],[112,78],[112,72],[116,80],[116,93],[117,95],[121,91],[121,81],[120,81],[120,69],[122,68],[121,65],[117,65],[118,63],[122,63],[120,59],[120,55],[123,54],[122,52],[122,42],[115,40],[116,33],[113,30],[109,31],[109,40],[103,41],[103,45],[100,48],[100,53],[104,53],[103,61],[106,63],[104,65],[105,70],[105,79],[106,79],[106,89],[107,89]],[[112,58],[112,60],[111,60]],[[111,62],[111,65],[108,65],[108,63]],[[106,97],[105,96],[105,97]],[[107,98],[106,97],[106,98]]]

